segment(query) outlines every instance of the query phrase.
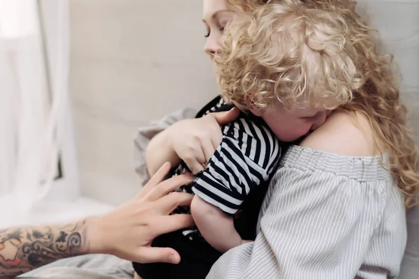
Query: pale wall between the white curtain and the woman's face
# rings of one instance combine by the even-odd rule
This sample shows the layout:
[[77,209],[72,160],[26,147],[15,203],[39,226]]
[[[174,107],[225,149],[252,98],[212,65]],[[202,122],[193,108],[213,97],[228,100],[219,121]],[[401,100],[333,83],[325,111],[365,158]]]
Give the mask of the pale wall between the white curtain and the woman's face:
[[82,193],[133,197],[138,126],[218,93],[199,0],[71,0],[70,89]]

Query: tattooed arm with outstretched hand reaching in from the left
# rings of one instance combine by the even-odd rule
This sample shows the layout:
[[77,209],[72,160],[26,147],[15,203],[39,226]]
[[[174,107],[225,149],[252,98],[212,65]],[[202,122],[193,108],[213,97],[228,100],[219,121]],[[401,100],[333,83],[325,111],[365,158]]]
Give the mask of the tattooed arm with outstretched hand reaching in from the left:
[[57,259],[83,254],[111,254],[142,263],[179,263],[179,254],[172,248],[149,246],[160,234],[193,225],[190,215],[168,216],[172,209],[192,200],[192,195],[172,193],[191,183],[192,176],[163,181],[169,170],[170,164],[164,164],[137,197],[102,216],[1,230],[0,278],[15,278]]

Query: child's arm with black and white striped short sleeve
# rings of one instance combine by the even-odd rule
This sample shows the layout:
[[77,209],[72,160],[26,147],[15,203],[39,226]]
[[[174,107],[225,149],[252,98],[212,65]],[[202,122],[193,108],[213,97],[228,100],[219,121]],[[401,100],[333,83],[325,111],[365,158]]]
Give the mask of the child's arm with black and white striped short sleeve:
[[[277,168],[281,152],[275,139],[270,130],[249,119],[229,123],[207,169],[196,175],[191,213],[200,233],[216,250],[226,252],[244,242],[232,216],[250,191]],[[251,148],[263,148],[263,156]]]

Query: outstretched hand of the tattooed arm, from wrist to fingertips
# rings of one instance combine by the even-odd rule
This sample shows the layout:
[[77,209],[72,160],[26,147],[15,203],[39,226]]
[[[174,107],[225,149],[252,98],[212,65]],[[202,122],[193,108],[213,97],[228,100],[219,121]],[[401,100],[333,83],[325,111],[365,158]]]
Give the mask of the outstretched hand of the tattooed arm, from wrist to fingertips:
[[163,164],[137,197],[110,213],[87,219],[89,253],[107,253],[140,263],[179,263],[174,249],[150,246],[156,236],[194,225],[190,215],[169,216],[177,206],[191,203],[192,195],[172,191],[191,183],[193,176],[163,181],[169,170],[170,164]]

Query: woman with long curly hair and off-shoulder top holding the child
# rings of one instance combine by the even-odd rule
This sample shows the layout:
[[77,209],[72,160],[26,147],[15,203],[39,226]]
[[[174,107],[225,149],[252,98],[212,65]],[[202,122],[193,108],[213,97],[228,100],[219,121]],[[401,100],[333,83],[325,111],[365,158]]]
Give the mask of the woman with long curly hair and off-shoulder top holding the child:
[[[240,1],[230,8],[221,0],[204,3],[210,56],[222,43],[224,24],[240,10],[260,4]],[[256,241],[228,251],[209,278],[387,278],[399,273],[406,224],[397,186],[406,193],[407,204],[418,193],[418,152],[404,128],[399,93],[350,1],[302,4],[346,15],[350,38],[362,50],[359,63],[366,82],[346,110],[332,114],[300,146],[291,147],[262,206]],[[219,123],[213,116],[179,121],[175,125],[183,132],[178,134],[166,122],[140,131],[138,170],[156,172],[163,164],[156,148],[163,150],[165,143],[172,163],[182,158],[199,169],[203,146],[219,134]],[[381,166],[382,156],[398,183]]]

